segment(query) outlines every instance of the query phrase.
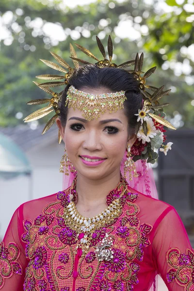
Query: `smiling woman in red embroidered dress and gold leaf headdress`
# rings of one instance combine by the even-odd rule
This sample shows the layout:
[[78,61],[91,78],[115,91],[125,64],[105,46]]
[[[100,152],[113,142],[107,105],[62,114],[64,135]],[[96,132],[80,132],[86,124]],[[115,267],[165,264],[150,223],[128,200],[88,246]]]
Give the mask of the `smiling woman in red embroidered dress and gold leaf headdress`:
[[[146,74],[140,77],[143,55],[124,65],[112,64],[111,43],[109,37],[109,63],[97,60],[82,67],[70,47],[77,67],[68,67],[62,96],[49,89],[55,81],[36,83],[53,96],[50,104],[56,114],[44,131],[56,120],[59,141],[65,142],[61,171],[71,171],[65,185],[72,183],[62,192],[22,204],[14,213],[0,248],[2,291],[147,291],[157,274],[170,291],[194,288],[194,252],[185,228],[172,206],[151,197],[155,185],[145,163],[157,158],[153,141],[155,148],[156,140],[162,146],[162,124],[172,127],[149,112],[162,108],[158,97],[168,91],[145,85]],[[134,63],[132,73],[122,68]],[[35,102],[44,100],[29,104]],[[50,104],[25,121],[49,113]],[[171,144],[161,150],[166,154]]]

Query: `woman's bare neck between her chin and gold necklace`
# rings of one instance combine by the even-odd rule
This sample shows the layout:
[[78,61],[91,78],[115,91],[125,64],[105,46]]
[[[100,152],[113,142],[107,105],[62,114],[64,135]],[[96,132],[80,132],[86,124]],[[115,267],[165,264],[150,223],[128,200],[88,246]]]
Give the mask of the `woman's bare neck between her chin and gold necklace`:
[[78,173],[76,191],[78,204],[86,208],[99,204],[106,204],[106,196],[120,181],[120,171],[116,170],[110,175],[100,179],[91,180]]

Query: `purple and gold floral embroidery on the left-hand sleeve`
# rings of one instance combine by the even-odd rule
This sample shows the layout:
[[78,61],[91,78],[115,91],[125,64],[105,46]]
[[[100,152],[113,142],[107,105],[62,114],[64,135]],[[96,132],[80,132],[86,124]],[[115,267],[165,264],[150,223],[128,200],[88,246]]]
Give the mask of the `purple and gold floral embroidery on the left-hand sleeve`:
[[15,242],[9,242],[7,247],[4,242],[0,243],[0,289],[6,278],[10,278],[14,273],[22,275],[22,267],[17,262],[19,256],[20,251]]

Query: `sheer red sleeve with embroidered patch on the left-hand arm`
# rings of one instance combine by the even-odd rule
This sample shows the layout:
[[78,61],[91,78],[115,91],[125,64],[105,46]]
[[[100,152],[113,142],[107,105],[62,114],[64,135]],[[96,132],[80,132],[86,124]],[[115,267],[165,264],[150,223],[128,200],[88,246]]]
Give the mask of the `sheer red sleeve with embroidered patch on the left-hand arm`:
[[0,243],[0,291],[22,291],[25,268],[25,244],[21,241],[23,205],[14,213],[3,241]]

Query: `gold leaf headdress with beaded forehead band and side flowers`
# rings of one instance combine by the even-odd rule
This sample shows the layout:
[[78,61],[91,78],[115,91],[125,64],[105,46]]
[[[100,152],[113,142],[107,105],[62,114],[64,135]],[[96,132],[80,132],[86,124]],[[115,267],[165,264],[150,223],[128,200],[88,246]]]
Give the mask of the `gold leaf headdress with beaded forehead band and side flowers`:
[[[95,65],[103,69],[105,67],[117,67],[125,69],[129,74],[132,74],[133,77],[139,82],[139,90],[143,96],[143,107],[139,109],[137,115],[137,126],[135,129],[135,133],[137,135],[137,140],[135,144],[130,149],[130,155],[132,160],[136,162],[137,160],[146,160],[147,162],[154,163],[158,158],[158,154],[156,150],[160,148],[160,151],[163,151],[166,155],[167,151],[171,149],[172,143],[168,143],[167,145],[163,145],[165,142],[164,132],[166,131],[163,127],[166,126],[170,129],[175,129],[172,124],[170,124],[165,119],[165,113],[163,112],[163,108],[167,106],[169,103],[159,103],[159,100],[165,96],[169,95],[170,90],[163,91],[164,86],[160,88],[150,86],[146,84],[146,79],[150,77],[156,70],[156,67],[150,68],[146,73],[142,71],[144,54],[142,53],[140,56],[137,53],[135,60],[130,60],[124,62],[120,65],[116,65],[112,62],[113,58],[113,43],[111,36],[108,38],[108,56],[109,60],[106,58],[106,52],[104,46],[100,39],[97,38],[97,46],[103,56],[103,60],[97,59],[97,57],[90,52],[88,49],[82,47],[81,45],[75,44],[78,49],[80,49],[87,56],[96,60]],[[58,86],[65,86],[68,84],[69,79],[73,76],[74,72],[79,69],[80,63],[82,65],[88,65],[85,60],[77,58],[77,54],[73,46],[70,44],[70,58],[73,61],[74,68],[72,68],[65,60],[63,60],[60,56],[51,52],[51,55],[55,58],[55,60],[60,64],[57,65],[53,62],[47,60],[41,60],[43,63],[48,65],[49,67],[59,71],[62,75],[39,75],[36,78],[41,80],[49,80],[48,82],[38,83],[34,82],[40,89],[51,95],[51,98],[44,99],[35,99],[29,101],[27,104],[29,105],[40,105],[49,103],[46,107],[39,109],[27,117],[24,118],[24,122],[30,122],[33,120],[37,120],[48,115],[51,112],[55,112],[55,114],[49,119],[45,128],[43,129],[42,134],[44,134],[50,127],[55,123],[58,116],[60,116],[60,106],[59,102],[62,100],[63,91],[60,93],[56,93],[50,88],[55,88]],[[133,69],[129,69],[130,66],[133,66]],[[149,90],[149,91],[147,91]],[[125,92],[113,92],[108,94],[101,95],[91,95],[85,93],[83,91],[77,90],[72,85],[69,87],[67,91],[66,103],[65,106],[72,107],[73,109],[78,108],[81,110],[82,115],[87,120],[92,120],[94,118],[98,118],[100,114],[105,113],[107,110],[111,112],[116,112],[124,108],[124,102],[126,100]],[[62,141],[62,137],[60,135],[60,131],[58,132],[58,141],[59,144]]]

